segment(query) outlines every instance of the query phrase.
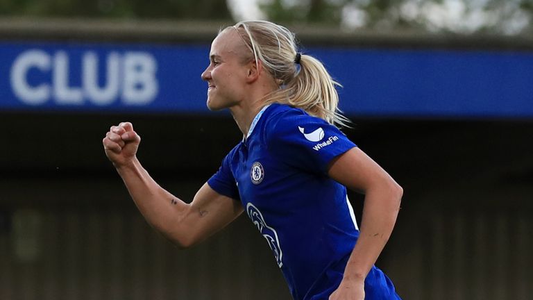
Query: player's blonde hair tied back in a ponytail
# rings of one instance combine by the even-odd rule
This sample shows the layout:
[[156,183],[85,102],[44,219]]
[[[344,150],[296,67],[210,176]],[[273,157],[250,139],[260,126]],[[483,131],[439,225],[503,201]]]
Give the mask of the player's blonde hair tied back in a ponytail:
[[[348,126],[350,121],[338,108],[335,85],[341,85],[319,60],[298,53],[294,33],[268,21],[243,21],[233,28],[253,53],[255,62],[261,61],[280,85],[279,90],[267,95],[267,103],[286,103],[330,124]],[[295,61],[297,54],[299,61]]]

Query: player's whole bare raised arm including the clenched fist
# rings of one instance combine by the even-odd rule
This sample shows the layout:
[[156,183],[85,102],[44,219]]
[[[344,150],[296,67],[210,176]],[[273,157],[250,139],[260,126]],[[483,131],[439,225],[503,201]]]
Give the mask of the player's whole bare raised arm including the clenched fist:
[[161,188],[137,160],[140,140],[133,125],[124,122],[110,128],[103,139],[103,147],[146,221],[171,242],[190,247],[242,213],[239,201],[218,194],[207,183],[191,203]]

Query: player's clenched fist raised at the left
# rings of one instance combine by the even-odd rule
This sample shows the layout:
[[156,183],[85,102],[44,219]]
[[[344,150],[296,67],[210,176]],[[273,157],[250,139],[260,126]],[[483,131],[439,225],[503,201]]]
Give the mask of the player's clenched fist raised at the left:
[[131,163],[135,158],[140,142],[141,137],[133,131],[133,125],[130,122],[111,126],[102,140],[105,155],[115,167],[122,167]]

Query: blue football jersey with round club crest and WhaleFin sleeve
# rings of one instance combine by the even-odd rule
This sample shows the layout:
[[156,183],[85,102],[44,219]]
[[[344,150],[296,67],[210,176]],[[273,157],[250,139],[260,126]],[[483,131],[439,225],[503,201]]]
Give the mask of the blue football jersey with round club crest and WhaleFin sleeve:
[[294,299],[328,299],[359,236],[346,188],[327,174],[332,159],[353,147],[323,119],[274,103],[257,114],[248,136],[208,181],[242,202]]

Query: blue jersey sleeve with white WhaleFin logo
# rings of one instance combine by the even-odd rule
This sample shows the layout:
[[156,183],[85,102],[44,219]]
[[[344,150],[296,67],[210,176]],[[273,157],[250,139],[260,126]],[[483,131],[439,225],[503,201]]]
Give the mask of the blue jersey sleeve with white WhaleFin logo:
[[357,147],[339,128],[305,113],[279,117],[267,133],[269,149],[287,165],[327,174],[331,160]]

